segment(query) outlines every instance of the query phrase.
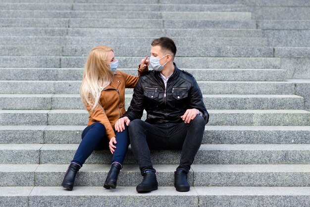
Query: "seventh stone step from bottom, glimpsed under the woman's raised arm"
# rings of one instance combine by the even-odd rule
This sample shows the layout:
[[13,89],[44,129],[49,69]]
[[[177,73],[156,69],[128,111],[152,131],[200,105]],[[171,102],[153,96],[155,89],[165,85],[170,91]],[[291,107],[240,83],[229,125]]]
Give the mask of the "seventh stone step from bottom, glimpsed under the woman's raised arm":
[[[0,81],[0,94],[79,94],[82,81]],[[203,94],[293,95],[290,82],[198,81]],[[132,94],[133,89],[125,89]]]

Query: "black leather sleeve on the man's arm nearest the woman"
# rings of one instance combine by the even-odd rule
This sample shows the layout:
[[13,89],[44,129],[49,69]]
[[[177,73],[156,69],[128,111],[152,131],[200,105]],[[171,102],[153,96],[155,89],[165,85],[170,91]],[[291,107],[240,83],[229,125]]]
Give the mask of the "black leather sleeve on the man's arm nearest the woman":
[[141,119],[144,110],[144,97],[142,88],[142,79],[139,79],[136,87],[134,88],[134,94],[130,106],[124,116],[127,116],[130,121],[134,119]]

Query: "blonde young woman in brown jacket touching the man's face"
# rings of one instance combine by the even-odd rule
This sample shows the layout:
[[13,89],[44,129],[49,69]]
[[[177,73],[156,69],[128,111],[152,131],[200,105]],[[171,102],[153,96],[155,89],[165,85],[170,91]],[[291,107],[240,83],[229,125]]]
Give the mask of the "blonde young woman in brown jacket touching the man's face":
[[[141,60],[142,68],[149,65],[148,56]],[[80,89],[81,99],[90,116],[82,133],[82,141],[69,165],[61,186],[72,190],[77,172],[94,150],[109,149],[111,168],[103,187],[116,188],[117,177],[129,146],[127,126],[117,132],[114,124],[125,113],[125,88],[134,88],[139,76],[116,70],[118,60],[107,46],[91,50],[84,66]]]

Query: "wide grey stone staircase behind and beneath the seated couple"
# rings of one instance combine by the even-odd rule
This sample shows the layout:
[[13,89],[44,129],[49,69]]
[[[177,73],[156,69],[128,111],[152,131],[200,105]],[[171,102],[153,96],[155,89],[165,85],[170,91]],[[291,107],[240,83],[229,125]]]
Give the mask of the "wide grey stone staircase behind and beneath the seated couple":
[[[0,206],[310,206],[308,0],[0,0],[0,10]],[[136,74],[160,36],[175,40],[210,113],[191,191],[173,187],[180,152],[158,151],[159,189],[138,194],[130,149],[115,190],[102,187],[107,151],[64,190],[87,123],[89,50],[111,46]]]

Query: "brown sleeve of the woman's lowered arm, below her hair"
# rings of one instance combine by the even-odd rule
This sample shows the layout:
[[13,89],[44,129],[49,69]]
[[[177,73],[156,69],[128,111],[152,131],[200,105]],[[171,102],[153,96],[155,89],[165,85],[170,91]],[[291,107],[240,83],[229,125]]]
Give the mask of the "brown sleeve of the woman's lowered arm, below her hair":
[[114,133],[113,127],[111,126],[111,123],[106,117],[106,114],[101,106],[97,105],[96,108],[91,112],[92,107],[89,104],[87,104],[86,109],[88,110],[90,116],[93,119],[99,121],[100,123],[104,125],[105,130],[106,130],[106,136],[109,140],[112,137],[116,136]]

